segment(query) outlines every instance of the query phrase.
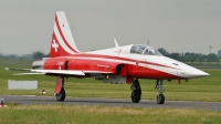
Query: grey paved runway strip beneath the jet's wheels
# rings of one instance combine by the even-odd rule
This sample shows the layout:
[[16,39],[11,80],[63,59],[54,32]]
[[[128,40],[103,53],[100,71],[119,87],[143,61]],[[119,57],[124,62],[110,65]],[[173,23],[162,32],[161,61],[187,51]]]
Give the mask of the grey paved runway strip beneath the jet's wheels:
[[165,104],[157,104],[155,100],[141,100],[133,103],[124,99],[93,99],[93,97],[66,97],[64,102],[57,102],[55,96],[24,96],[24,95],[0,95],[4,102],[21,104],[73,104],[73,105],[107,105],[107,106],[134,106],[134,107],[173,107],[173,108],[207,108],[221,111],[219,102],[186,102],[166,101]]

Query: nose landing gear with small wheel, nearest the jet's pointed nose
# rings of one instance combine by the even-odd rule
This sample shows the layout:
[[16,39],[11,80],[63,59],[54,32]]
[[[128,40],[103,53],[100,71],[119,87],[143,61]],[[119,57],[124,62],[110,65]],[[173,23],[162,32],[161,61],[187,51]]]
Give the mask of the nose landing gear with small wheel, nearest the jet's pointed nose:
[[165,95],[164,95],[162,80],[157,80],[155,89],[158,90],[157,103],[164,104],[165,103]]

